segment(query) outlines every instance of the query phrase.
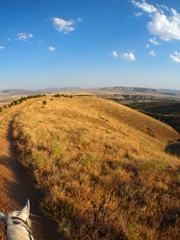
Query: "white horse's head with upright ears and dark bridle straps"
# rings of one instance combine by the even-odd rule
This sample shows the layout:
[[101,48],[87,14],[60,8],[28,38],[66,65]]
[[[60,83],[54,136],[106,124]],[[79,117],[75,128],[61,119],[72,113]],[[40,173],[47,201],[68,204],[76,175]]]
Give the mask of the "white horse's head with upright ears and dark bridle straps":
[[0,221],[5,224],[8,240],[34,240],[30,229],[29,213],[29,200],[21,211],[10,212],[8,217],[0,212]]

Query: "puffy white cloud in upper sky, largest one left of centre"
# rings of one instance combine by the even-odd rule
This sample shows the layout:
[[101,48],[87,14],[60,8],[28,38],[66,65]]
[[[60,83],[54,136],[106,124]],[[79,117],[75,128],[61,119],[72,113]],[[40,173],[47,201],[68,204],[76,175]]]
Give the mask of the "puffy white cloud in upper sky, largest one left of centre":
[[53,25],[56,30],[59,32],[63,32],[65,34],[72,32],[74,30],[74,24],[75,22],[73,20],[65,21],[61,18],[52,18]]

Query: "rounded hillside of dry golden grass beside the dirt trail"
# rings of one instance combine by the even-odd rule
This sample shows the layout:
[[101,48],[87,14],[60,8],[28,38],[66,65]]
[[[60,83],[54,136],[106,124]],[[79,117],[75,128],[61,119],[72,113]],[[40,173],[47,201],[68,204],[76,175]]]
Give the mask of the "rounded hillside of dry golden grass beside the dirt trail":
[[21,161],[41,208],[71,239],[179,239],[179,134],[94,97],[44,97],[16,116]]

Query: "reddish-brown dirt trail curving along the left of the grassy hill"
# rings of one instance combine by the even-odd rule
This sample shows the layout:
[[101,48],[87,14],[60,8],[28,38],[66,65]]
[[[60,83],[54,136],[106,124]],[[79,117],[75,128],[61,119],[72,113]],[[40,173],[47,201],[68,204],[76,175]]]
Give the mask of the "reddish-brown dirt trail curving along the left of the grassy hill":
[[[17,160],[17,151],[12,138],[12,123],[23,106],[14,107],[6,115],[0,116],[0,212],[8,214],[10,211],[20,210],[27,199],[30,199],[31,213],[39,216],[31,217],[35,221],[32,229],[34,239],[64,239],[56,230],[57,224],[42,215],[39,209],[40,193],[35,189],[35,183],[26,169]],[[1,223],[1,240],[6,239],[4,231],[4,225]]]

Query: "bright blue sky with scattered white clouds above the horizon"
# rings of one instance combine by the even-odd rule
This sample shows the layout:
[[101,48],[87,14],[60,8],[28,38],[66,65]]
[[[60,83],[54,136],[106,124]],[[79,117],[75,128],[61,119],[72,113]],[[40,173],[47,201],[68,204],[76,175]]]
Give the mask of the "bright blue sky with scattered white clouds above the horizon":
[[180,90],[179,0],[0,0],[0,90]]

